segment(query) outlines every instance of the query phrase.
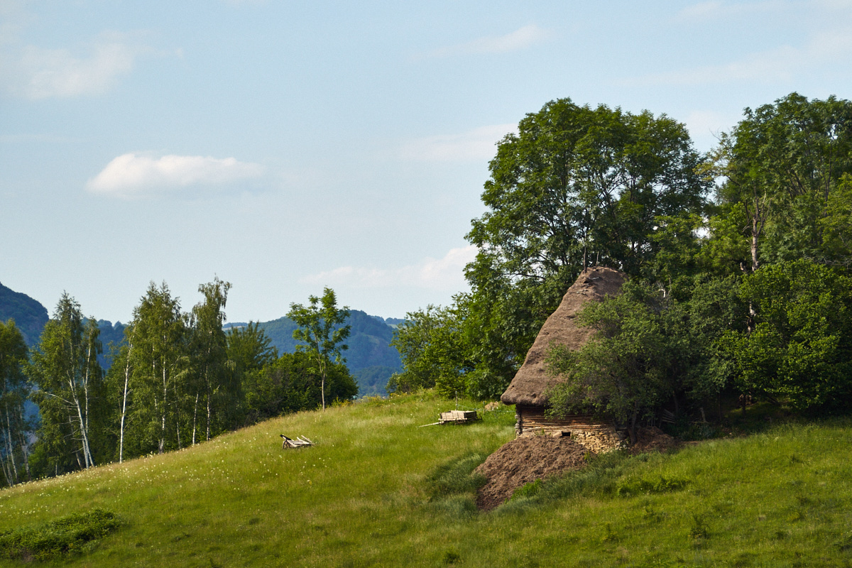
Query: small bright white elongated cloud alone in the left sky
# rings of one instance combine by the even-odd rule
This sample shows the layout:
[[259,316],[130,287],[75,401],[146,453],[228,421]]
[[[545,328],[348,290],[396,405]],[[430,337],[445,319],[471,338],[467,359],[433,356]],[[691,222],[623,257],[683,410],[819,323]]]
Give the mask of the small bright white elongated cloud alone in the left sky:
[[154,158],[130,152],[114,158],[101,173],[89,180],[89,192],[133,197],[187,186],[222,186],[259,177],[260,164],[235,158],[168,155]]

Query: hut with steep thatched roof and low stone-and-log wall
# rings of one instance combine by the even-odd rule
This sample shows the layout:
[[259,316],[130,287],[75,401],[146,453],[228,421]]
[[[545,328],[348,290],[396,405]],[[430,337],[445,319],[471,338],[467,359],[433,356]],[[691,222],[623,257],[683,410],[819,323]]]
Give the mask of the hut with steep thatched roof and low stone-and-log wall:
[[619,294],[624,283],[625,275],[612,268],[586,268],[562,297],[556,312],[544,322],[524,364],[500,397],[504,404],[515,404],[515,433],[518,436],[570,434],[580,444],[596,452],[613,450],[625,443],[625,432],[617,430],[611,423],[595,421],[588,415],[556,419],[544,413],[548,407],[547,390],[559,381],[545,369],[548,349],[553,344],[573,350],[583,347],[593,330],[576,324],[577,314],[587,301],[602,301],[607,295]]

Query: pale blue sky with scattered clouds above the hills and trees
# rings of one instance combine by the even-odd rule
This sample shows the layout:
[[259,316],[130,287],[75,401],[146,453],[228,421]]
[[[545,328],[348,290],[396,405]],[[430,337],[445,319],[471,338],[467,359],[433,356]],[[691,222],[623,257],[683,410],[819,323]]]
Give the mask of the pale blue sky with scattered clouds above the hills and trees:
[[0,0],[0,282],[129,321],[150,281],[230,321],[324,286],[403,317],[466,290],[494,144],[548,100],[710,150],[852,87],[852,2]]

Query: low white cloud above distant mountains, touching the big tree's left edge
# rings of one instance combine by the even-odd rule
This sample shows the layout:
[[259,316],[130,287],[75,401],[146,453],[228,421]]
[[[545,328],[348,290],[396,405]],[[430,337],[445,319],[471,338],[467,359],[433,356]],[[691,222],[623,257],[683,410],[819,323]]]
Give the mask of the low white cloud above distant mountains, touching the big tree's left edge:
[[464,267],[476,257],[476,247],[451,249],[443,258],[427,257],[407,267],[385,269],[364,267],[339,267],[323,273],[301,278],[305,284],[322,284],[332,287],[348,285],[357,288],[392,288],[414,286],[428,290],[458,291],[464,282]]

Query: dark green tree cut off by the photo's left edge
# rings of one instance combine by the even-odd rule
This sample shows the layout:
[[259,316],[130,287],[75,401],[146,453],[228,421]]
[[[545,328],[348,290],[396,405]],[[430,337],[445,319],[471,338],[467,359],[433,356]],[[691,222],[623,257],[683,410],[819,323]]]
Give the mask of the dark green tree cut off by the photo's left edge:
[[[14,319],[0,321],[0,456],[8,485],[30,479],[28,442],[30,425],[24,417],[27,387],[23,369],[27,363],[24,336]],[[26,475],[19,472],[25,468]]]

